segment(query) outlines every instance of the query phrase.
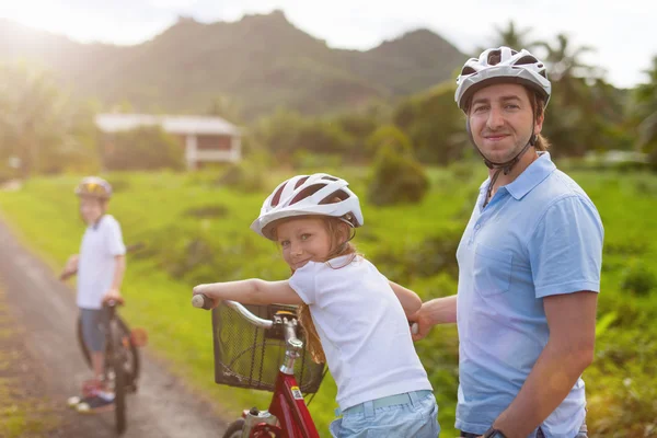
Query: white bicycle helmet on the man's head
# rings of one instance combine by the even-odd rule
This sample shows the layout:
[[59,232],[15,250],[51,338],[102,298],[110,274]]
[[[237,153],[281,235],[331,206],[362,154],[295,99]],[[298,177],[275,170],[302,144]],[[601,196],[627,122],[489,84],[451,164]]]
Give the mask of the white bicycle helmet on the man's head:
[[537,91],[548,106],[552,85],[548,80],[545,65],[526,49],[516,51],[504,46],[489,48],[479,58],[465,61],[461,74],[457,78],[454,100],[459,107],[465,111],[465,105],[475,91],[494,83],[508,82]]

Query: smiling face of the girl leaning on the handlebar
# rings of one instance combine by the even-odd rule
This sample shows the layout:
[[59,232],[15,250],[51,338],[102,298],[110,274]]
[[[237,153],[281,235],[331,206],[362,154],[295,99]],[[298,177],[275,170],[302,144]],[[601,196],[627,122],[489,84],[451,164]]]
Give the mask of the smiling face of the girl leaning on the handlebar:
[[331,253],[331,235],[324,221],[319,218],[286,220],[276,227],[276,235],[283,249],[283,258],[292,270],[310,261],[325,262]]

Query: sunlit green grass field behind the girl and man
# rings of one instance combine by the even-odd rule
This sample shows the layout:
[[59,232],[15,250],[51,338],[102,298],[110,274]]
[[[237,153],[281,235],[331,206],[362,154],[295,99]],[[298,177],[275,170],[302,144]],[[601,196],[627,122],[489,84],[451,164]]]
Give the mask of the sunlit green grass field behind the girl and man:
[[[364,204],[366,224],[357,233],[357,247],[423,299],[454,293],[456,245],[485,176],[482,168],[430,170],[431,191],[423,203],[384,208],[366,201],[362,169],[341,169],[336,173],[351,182]],[[291,174],[267,174],[266,186]],[[593,199],[606,228],[597,358],[585,374],[589,427],[599,437],[657,434],[656,366],[649,359],[657,354],[657,324],[652,323],[657,315],[657,175],[569,174]],[[168,359],[174,373],[224,406],[220,414],[231,417],[254,404],[265,406],[267,393],[212,384],[209,314],[193,309],[189,299],[199,283],[289,274],[276,247],[249,229],[267,191],[220,186],[211,172],[105,176],[116,187],[110,212],[122,223],[126,243],[146,244],[128,257],[123,314],[132,326],[148,330],[151,350]],[[78,181],[34,178],[19,192],[0,193],[2,217],[54,269],[78,251],[83,232],[72,194]],[[434,383],[443,436],[452,437],[456,327],[436,328],[416,346]],[[310,406],[326,436],[334,397],[335,384],[326,379]]]

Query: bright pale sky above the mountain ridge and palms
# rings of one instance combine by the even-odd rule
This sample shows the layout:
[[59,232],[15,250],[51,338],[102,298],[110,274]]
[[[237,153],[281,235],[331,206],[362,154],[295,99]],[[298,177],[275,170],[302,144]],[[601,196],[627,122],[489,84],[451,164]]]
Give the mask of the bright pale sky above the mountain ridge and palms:
[[531,27],[530,39],[566,33],[597,53],[616,87],[645,82],[657,56],[657,1],[648,0],[0,0],[0,16],[81,42],[136,44],[178,15],[235,21],[245,13],[285,11],[288,20],[331,47],[369,49],[406,31],[427,27],[464,53],[488,46],[509,20]]

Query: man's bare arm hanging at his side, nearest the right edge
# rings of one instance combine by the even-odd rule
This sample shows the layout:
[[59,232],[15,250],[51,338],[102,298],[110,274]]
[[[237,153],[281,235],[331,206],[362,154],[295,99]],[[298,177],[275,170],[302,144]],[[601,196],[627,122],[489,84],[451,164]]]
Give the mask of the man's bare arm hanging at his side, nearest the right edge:
[[511,404],[493,424],[508,438],[525,438],[563,402],[593,360],[598,293],[543,298],[550,338]]

